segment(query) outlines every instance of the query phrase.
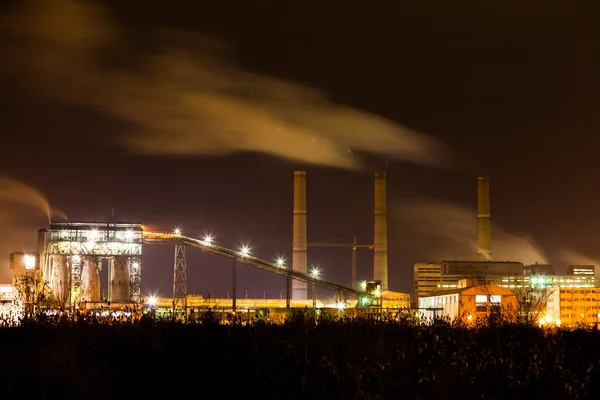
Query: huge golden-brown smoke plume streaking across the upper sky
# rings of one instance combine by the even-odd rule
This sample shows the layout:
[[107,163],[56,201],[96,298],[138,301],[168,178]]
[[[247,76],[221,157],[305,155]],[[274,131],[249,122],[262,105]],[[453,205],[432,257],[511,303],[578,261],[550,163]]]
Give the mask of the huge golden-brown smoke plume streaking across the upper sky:
[[4,45],[12,62],[0,69],[27,75],[47,98],[124,122],[129,132],[116,142],[131,152],[259,152],[343,168],[360,165],[348,154],[354,150],[424,165],[447,160],[432,138],[334,104],[318,90],[236,67],[219,41],[157,29],[145,35],[151,45],[138,46],[132,28],[119,26],[99,2],[25,4],[0,21],[0,33],[13,39],[6,43],[15,43]]

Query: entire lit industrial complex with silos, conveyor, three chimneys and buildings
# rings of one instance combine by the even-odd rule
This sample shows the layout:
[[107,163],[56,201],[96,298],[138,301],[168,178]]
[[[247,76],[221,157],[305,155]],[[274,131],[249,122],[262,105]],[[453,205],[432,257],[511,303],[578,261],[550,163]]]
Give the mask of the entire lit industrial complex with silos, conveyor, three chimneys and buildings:
[[[292,308],[338,312],[396,311],[420,318],[444,317],[472,321],[493,312],[565,325],[600,322],[600,287],[595,266],[572,265],[565,275],[551,265],[525,265],[518,260],[496,261],[492,253],[490,180],[478,178],[477,253],[473,260],[441,260],[414,264],[414,297],[388,286],[386,174],[374,174],[373,242],[309,242],[307,240],[306,172],[294,172],[292,265],[268,262],[249,249],[228,249],[210,237],[197,239],[173,232],[149,232],[142,224],[51,222],[38,231],[36,252],[13,253],[12,285],[0,287],[0,305],[25,310],[44,307],[86,312],[142,312],[145,309],[187,318],[201,310],[285,314]],[[174,248],[173,296],[144,297],[141,291],[143,249],[156,243]],[[308,271],[311,246],[352,249],[351,287],[322,279]],[[356,249],[373,250],[372,280],[357,282]],[[187,292],[186,252],[196,249],[231,260],[231,296],[208,298]],[[237,296],[238,264],[284,276],[285,296],[248,299]],[[107,282],[102,287],[101,282]],[[318,296],[318,288],[326,295]],[[536,304],[523,311],[523,305]],[[512,311],[510,311],[512,310]],[[510,312],[509,312],[510,311]]]

